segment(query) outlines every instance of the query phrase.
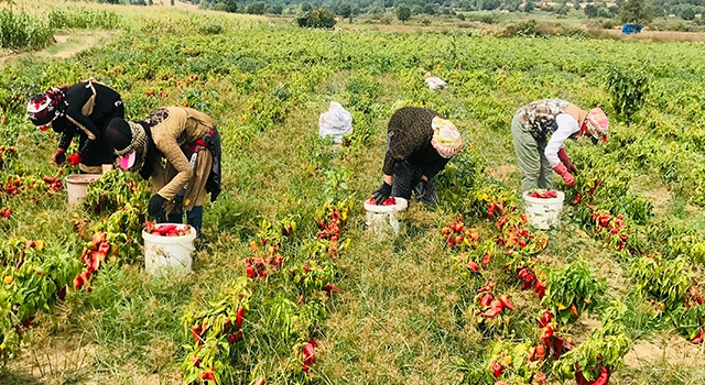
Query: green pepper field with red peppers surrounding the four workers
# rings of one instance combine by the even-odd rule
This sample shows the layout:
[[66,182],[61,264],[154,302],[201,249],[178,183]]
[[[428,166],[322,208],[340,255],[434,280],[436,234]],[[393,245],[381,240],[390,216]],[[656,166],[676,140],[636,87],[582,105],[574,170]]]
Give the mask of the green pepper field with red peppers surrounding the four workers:
[[[0,73],[0,383],[705,382],[703,43],[62,10],[96,9],[115,18],[109,43]],[[426,72],[449,88],[430,91]],[[50,164],[57,139],[25,106],[89,77],[132,119],[182,105],[217,122],[224,193],[191,274],[144,273],[151,193],[134,175],[66,206],[53,178],[76,169]],[[603,107],[610,134],[566,145],[576,187],[556,179],[561,224],[541,232],[522,218],[510,121],[553,97]],[[354,117],[339,150],[317,134],[330,101]],[[362,201],[404,106],[454,121],[466,147],[438,176],[441,207],[412,201],[399,235],[377,237]]]

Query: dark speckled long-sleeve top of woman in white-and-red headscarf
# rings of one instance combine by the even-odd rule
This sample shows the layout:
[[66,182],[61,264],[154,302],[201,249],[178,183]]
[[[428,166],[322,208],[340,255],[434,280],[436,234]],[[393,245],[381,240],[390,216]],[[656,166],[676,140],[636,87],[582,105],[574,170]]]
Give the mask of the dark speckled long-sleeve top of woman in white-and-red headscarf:
[[431,122],[437,116],[434,110],[417,107],[404,107],[392,114],[387,127],[384,175],[393,175],[397,163],[404,161],[420,166],[427,178],[433,178],[445,167],[449,160],[431,145]]

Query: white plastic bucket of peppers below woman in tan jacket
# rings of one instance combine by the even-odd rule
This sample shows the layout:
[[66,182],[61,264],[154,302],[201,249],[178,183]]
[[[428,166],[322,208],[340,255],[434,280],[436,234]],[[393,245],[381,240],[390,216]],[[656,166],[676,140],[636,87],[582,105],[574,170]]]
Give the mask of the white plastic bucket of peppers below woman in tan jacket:
[[158,226],[163,224],[187,227],[188,233],[186,235],[163,237],[153,235],[142,230],[144,270],[149,274],[155,274],[164,270],[191,272],[191,253],[195,250],[196,230],[188,224],[181,223],[159,223]]

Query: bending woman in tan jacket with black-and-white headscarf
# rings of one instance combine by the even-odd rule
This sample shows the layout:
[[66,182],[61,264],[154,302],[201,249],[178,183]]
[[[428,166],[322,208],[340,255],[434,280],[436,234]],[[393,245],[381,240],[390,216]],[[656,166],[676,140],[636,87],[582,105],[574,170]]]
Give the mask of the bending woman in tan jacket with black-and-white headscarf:
[[152,179],[149,213],[158,222],[180,223],[185,208],[186,222],[200,232],[206,194],[212,201],[220,194],[220,136],[210,117],[166,107],[139,122],[113,119],[106,136],[120,168]]

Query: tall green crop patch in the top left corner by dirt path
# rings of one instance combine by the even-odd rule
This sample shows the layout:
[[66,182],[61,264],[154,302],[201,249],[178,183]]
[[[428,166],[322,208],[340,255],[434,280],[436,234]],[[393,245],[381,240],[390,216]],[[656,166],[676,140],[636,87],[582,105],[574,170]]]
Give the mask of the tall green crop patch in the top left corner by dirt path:
[[44,20],[24,11],[0,10],[0,46],[11,50],[43,48],[54,41],[54,31]]

